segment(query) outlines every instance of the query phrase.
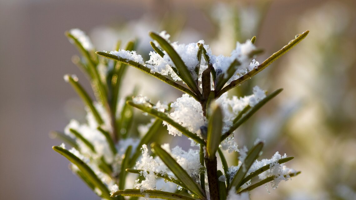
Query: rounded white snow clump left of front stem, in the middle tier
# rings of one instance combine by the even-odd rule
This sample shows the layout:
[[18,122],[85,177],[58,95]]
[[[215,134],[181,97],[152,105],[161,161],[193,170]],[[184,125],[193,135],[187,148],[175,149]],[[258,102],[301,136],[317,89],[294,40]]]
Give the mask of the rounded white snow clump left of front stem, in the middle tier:
[[[174,111],[169,115],[174,121],[187,128],[190,132],[200,135],[200,126],[205,125],[206,119],[197,100],[188,94],[183,94],[182,97],[171,104],[171,107]],[[182,132],[167,122],[163,122],[163,125],[167,125],[169,134],[182,136]]]

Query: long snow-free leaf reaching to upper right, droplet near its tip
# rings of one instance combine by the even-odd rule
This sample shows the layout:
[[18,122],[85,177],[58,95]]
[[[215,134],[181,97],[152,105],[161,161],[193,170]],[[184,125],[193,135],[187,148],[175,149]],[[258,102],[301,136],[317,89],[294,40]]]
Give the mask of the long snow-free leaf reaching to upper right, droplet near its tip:
[[218,98],[222,94],[226,93],[227,91],[231,90],[232,88],[236,87],[237,85],[240,85],[241,83],[244,83],[246,80],[250,79],[251,77],[253,77],[257,73],[261,72],[268,65],[273,63],[275,60],[277,60],[279,57],[281,57],[284,53],[288,52],[296,44],[298,44],[300,41],[302,41],[308,35],[308,33],[309,33],[309,31],[303,32],[297,38],[295,38],[294,40],[291,40],[281,50],[277,51],[276,53],[273,53],[272,56],[270,56],[265,61],[263,61],[255,69],[251,70],[250,72],[248,72],[247,74],[245,74],[242,77],[238,78],[237,80],[232,81],[229,85],[227,85],[225,88],[223,88],[221,91],[219,91],[219,93],[216,95],[217,96],[216,98]]

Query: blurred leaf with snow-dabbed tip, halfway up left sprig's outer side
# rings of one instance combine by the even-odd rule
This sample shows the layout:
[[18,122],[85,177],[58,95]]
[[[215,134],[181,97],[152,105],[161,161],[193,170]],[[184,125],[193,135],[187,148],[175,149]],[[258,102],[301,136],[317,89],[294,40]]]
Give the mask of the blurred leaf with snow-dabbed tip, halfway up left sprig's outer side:
[[84,104],[89,107],[91,113],[94,115],[94,118],[95,118],[96,122],[98,122],[99,125],[102,125],[104,123],[103,119],[101,119],[101,116],[100,116],[99,112],[96,110],[96,108],[95,108],[95,106],[93,104],[93,101],[91,100],[91,98],[88,95],[88,93],[84,90],[82,85],[80,85],[78,83],[78,78],[77,77],[72,77],[69,74],[67,74],[67,75],[64,76],[64,79],[67,82],[69,82],[70,85],[72,85],[72,87],[78,93],[80,98],[82,98]]

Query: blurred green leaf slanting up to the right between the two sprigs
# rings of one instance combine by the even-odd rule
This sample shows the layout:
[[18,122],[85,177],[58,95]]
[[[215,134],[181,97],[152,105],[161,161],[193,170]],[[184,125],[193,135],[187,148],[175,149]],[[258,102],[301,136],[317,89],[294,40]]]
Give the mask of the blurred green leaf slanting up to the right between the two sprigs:
[[156,121],[153,122],[153,124],[148,129],[148,131],[145,134],[145,136],[142,137],[140,143],[137,145],[136,151],[135,151],[135,153],[133,154],[133,156],[132,156],[132,158],[130,160],[130,167],[135,165],[137,158],[140,157],[142,145],[143,144],[148,144],[148,142],[150,142],[152,140],[153,136],[156,135],[156,133],[157,133],[159,127],[161,127],[161,125],[162,125],[162,120],[160,120],[160,119],[156,119]]

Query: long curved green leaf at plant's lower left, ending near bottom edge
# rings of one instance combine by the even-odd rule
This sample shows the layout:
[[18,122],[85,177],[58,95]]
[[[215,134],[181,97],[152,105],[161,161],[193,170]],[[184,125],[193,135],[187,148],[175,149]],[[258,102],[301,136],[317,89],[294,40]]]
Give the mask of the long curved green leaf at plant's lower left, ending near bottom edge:
[[93,170],[87,164],[85,164],[78,157],[74,156],[74,154],[70,153],[67,149],[63,149],[58,146],[53,146],[52,148],[54,151],[58,152],[59,154],[61,154],[64,157],[66,157],[70,162],[77,165],[79,170],[90,181],[90,183],[95,185],[95,188],[98,188],[101,191],[101,195],[104,198],[111,199],[110,192],[109,192],[108,188],[106,188],[105,184],[103,182],[101,182],[101,180],[96,176],[96,174],[93,172]]

